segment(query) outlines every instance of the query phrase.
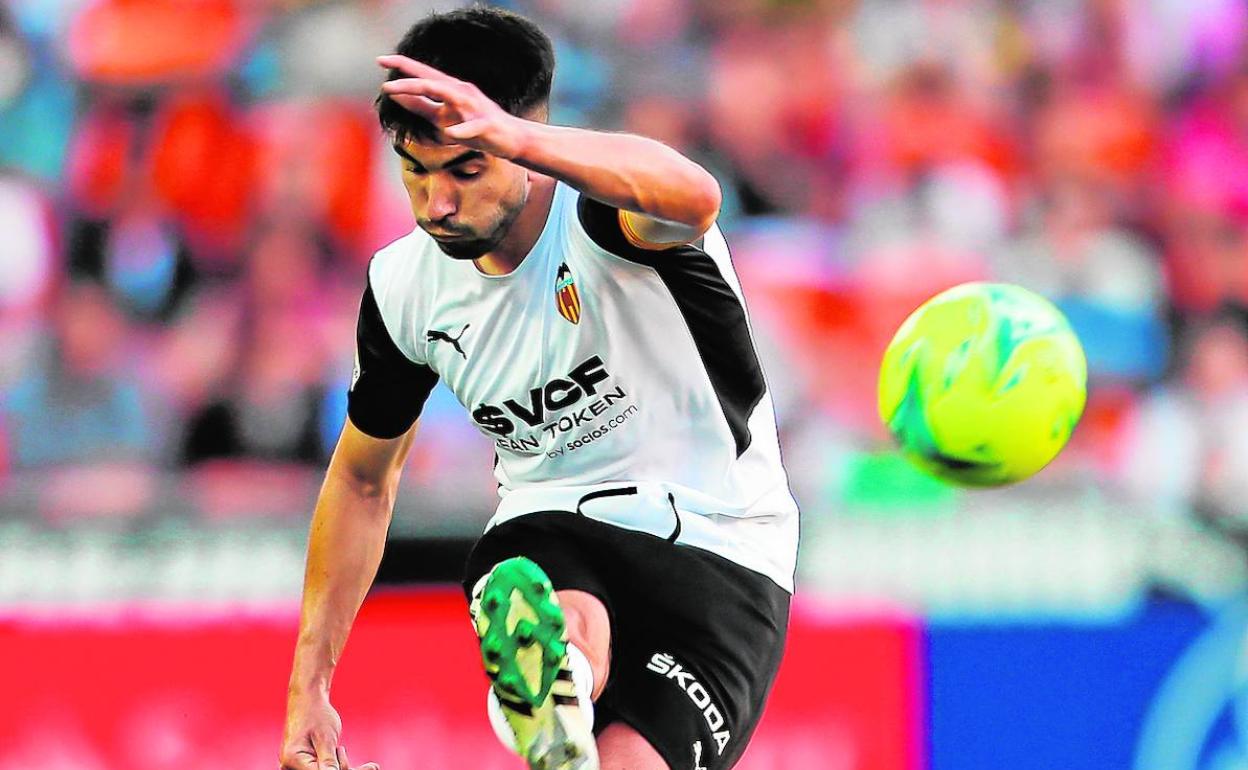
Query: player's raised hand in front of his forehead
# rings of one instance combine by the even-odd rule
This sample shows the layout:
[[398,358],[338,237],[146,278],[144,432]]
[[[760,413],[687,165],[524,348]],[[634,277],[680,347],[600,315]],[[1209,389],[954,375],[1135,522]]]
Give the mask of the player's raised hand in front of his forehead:
[[377,64],[408,77],[388,80],[382,91],[404,110],[439,129],[446,145],[463,145],[504,158],[520,154],[528,121],[509,114],[475,85],[397,54]]

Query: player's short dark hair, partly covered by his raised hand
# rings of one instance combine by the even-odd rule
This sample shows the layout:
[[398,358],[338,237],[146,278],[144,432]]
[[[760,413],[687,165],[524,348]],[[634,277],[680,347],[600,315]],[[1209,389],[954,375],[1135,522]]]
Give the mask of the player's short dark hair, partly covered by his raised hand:
[[[480,89],[512,115],[550,101],[554,49],[535,24],[498,7],[431,14],[412,25],[396,54],[437,67]],[[388,80],[404,77],[391,70]],[[432,139],[433,125],[382,94],[374,102],[382,129],[398,141]]]

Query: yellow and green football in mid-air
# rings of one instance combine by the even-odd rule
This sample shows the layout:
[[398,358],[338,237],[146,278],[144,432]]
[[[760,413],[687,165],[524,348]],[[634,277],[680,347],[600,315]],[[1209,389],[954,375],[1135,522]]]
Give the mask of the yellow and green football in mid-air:
[[1087,361],[1051,302],[963,283],[906,318],[880,366],[880,418],[924,470],[971,487],[1022,480],[1057,457],[1087,399]]

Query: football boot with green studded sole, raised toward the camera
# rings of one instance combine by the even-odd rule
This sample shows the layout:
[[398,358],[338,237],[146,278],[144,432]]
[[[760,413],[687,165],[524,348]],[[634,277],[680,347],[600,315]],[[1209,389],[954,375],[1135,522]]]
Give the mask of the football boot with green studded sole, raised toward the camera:
[[530,770],[598,770],[563,608],[542,568],[524,557],[499,562],[477,582],[469,612],[517,754]]

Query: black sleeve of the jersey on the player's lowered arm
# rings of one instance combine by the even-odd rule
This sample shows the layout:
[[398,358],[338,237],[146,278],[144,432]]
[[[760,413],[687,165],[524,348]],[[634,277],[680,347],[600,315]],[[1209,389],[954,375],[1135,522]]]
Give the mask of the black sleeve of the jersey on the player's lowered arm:
[[424,402],[438,383],[437,373],[409,359],[398,349],[373,287],[364,290],[356,326],[358,372],[347,392],[347,416],[352,424],[373,438],[396,438],[407,433],[421,416]]

